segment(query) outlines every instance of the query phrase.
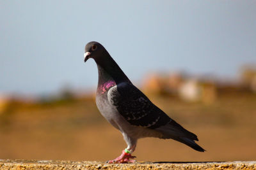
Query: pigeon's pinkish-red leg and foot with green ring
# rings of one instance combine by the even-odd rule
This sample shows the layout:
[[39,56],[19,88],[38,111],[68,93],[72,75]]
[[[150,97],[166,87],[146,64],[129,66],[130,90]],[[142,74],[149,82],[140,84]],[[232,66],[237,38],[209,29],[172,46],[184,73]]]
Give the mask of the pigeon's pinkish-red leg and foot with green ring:
[[114,160],[109,160],[108,163],[134,163],[136,160],[130,160],[136,158],[131,153],[134,152],[136,145],[130,148],[129,146],[122,151],[122,154]]

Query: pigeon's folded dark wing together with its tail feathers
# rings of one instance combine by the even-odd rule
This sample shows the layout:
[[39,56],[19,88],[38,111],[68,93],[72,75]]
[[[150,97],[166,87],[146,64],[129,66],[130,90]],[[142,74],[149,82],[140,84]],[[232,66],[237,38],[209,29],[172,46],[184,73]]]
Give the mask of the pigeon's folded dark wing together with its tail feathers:
[[111,87],[108,100],[131,125],[154,129],[163,134],[163,139],[172,138],[200,152],[205,151],[195,143],[198,141],[195,134],[168,117],[131,83]]

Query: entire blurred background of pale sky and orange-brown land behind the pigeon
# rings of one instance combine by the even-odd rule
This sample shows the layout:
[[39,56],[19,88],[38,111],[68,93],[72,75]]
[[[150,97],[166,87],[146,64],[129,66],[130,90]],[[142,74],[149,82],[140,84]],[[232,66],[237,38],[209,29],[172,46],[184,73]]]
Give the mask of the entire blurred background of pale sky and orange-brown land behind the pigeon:
[[99,41],[207,152],[140,139],[139,161],[256,158],[256,1],[0,1],[0,159],[109,160],[126,147],[95,105]]

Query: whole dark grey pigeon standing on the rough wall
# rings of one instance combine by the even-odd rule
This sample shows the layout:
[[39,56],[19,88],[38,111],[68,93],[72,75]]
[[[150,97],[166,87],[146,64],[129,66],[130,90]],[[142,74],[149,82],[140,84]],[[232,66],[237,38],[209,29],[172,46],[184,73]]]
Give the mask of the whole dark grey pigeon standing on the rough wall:
[[174,139],[198,152],[204,148],[195,143],[198,138],[170,118],[135,87],[104,46],[96,41],[86,44],[84,62],[94,59],[98,69],[96,105],[106,120],[124,136],[127,148],[108,163],[132,163],[136,143],[140,138]]

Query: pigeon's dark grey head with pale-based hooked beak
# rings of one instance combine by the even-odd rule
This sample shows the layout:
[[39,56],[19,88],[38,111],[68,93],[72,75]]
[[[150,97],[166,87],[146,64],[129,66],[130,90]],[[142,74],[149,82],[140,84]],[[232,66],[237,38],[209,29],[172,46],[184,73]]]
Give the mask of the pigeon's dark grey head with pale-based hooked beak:
[[100,43],[95,41],[88,43],[85,46],[84,62],[90,58],[97,60],[97,58],[101,56],[104,51],[106,50]]

